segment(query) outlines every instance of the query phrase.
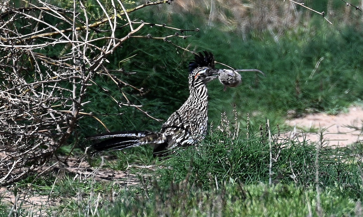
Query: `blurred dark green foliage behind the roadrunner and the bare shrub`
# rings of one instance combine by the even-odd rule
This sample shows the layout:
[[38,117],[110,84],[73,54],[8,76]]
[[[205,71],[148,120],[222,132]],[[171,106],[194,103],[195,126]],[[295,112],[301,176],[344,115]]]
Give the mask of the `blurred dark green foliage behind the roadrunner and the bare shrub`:
[[[264,78],[244,73],[243,83],[225,92],[218,81],[211,82],[209,116],[212,122],[219,120],[220,112],[232,111],[233,104],[237,105],[242,117],[260,111],[258,114],[276,119],[274,123],[278,123],[289,110],[296,111],[297,116],[316,111],[336,114],[362,99],[363,87],[358,85],[363,81],[361,25],[330,25],[321,17],[313,16],[308,21],[301,18],[298,26],[286,28],[282,33],[274,29],[244,33],[237,28],[226,29],[217,21],[206,25],[205,14],[168,13],[166,7],[132,13],[131,19],[167,23],[181,29],[200,28],[200,32],[188,32],[192,37],[173,42],[182,47],[189,45],[189,49],[195,51],[209,50],[219,62],[237,69],[260,69],[267,75]],[[174,34],[175,31],[154,26],[143,29],[141,34],[165,36],[168,32]],[[126,58],[129,59],[121,62]],[[187,66],[191,58],[191,54],[162,40],[131,39],[110,56],[109,61],[115,69],[122,67],[134,73],[122,75],[124,81],[146,90],[142,96],[131,92],[131,101],[143,105],[150,115],[166,120],[188,97]],[[112,83],[109,80],[102,82],[104,85]],[[87,112],[125,112],[125,115],[102,118],[111,130],[158,130],[161,123],[135,108],[118,108],[102,91],[93,88],[94,92],[90,93],[92,103],[86,108]],[[118,89],[110,91],[121,95]],[[88,125],[94,127],[92,131],[103,131],[97,122]],[[88,129],[84,131],[90,132]]]

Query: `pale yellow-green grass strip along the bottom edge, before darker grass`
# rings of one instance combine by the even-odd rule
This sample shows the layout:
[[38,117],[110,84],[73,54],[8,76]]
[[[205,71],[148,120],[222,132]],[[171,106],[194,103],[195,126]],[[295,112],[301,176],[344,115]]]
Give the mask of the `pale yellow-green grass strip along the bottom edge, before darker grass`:
[[[358,216],[361,202],[334,191],[322,190],[317,202],[314,188],[294,185],[221,184],[219,189],[203,191],[188,184],[158,189],[150,199],[117,202],[101,216]],[[159,196],[160,195],[160,196]],[[318,214],[317,206],[321,207]],[[142,207],[140,209],[140,206]]]

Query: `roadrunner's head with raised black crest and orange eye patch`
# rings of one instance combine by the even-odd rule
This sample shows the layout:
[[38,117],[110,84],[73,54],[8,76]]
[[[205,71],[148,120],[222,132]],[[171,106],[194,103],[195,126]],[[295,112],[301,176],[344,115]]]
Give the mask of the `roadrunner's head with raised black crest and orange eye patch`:
[[218,70],[214,68],[213,54],[206,51],[203,53],[196,53],[194,60],[189,62],[189,84],[205,84],[218,77]]

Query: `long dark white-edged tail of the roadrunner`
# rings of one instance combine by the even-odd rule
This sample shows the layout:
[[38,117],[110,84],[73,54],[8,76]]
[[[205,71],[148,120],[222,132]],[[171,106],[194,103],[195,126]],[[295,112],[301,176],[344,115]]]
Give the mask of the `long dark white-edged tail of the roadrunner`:
[[103,150],[122,150],[124,148],[131,148],[146,144],[141,142],[140,139],[152,134],[148,131],[124,131],[113,132],[89,136],[86,139],[106,139],[101,142],[93,144],[91,147],[95,152]]

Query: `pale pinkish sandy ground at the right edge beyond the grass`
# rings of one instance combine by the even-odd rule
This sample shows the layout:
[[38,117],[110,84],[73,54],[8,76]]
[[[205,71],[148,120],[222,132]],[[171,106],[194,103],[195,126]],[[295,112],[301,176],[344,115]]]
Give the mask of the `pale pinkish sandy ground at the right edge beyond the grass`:
[[[303,118],[286,120],[293,130],[282,135],[289,139],[303,138],[309,142],[319,142],[323,130],[323,145],[344,147],[355,142],[363,141],[362,129],[363,109],[352,106],[347,113],[327,115],[318,113]],[[357,130],[358,128],[358,130]]]

